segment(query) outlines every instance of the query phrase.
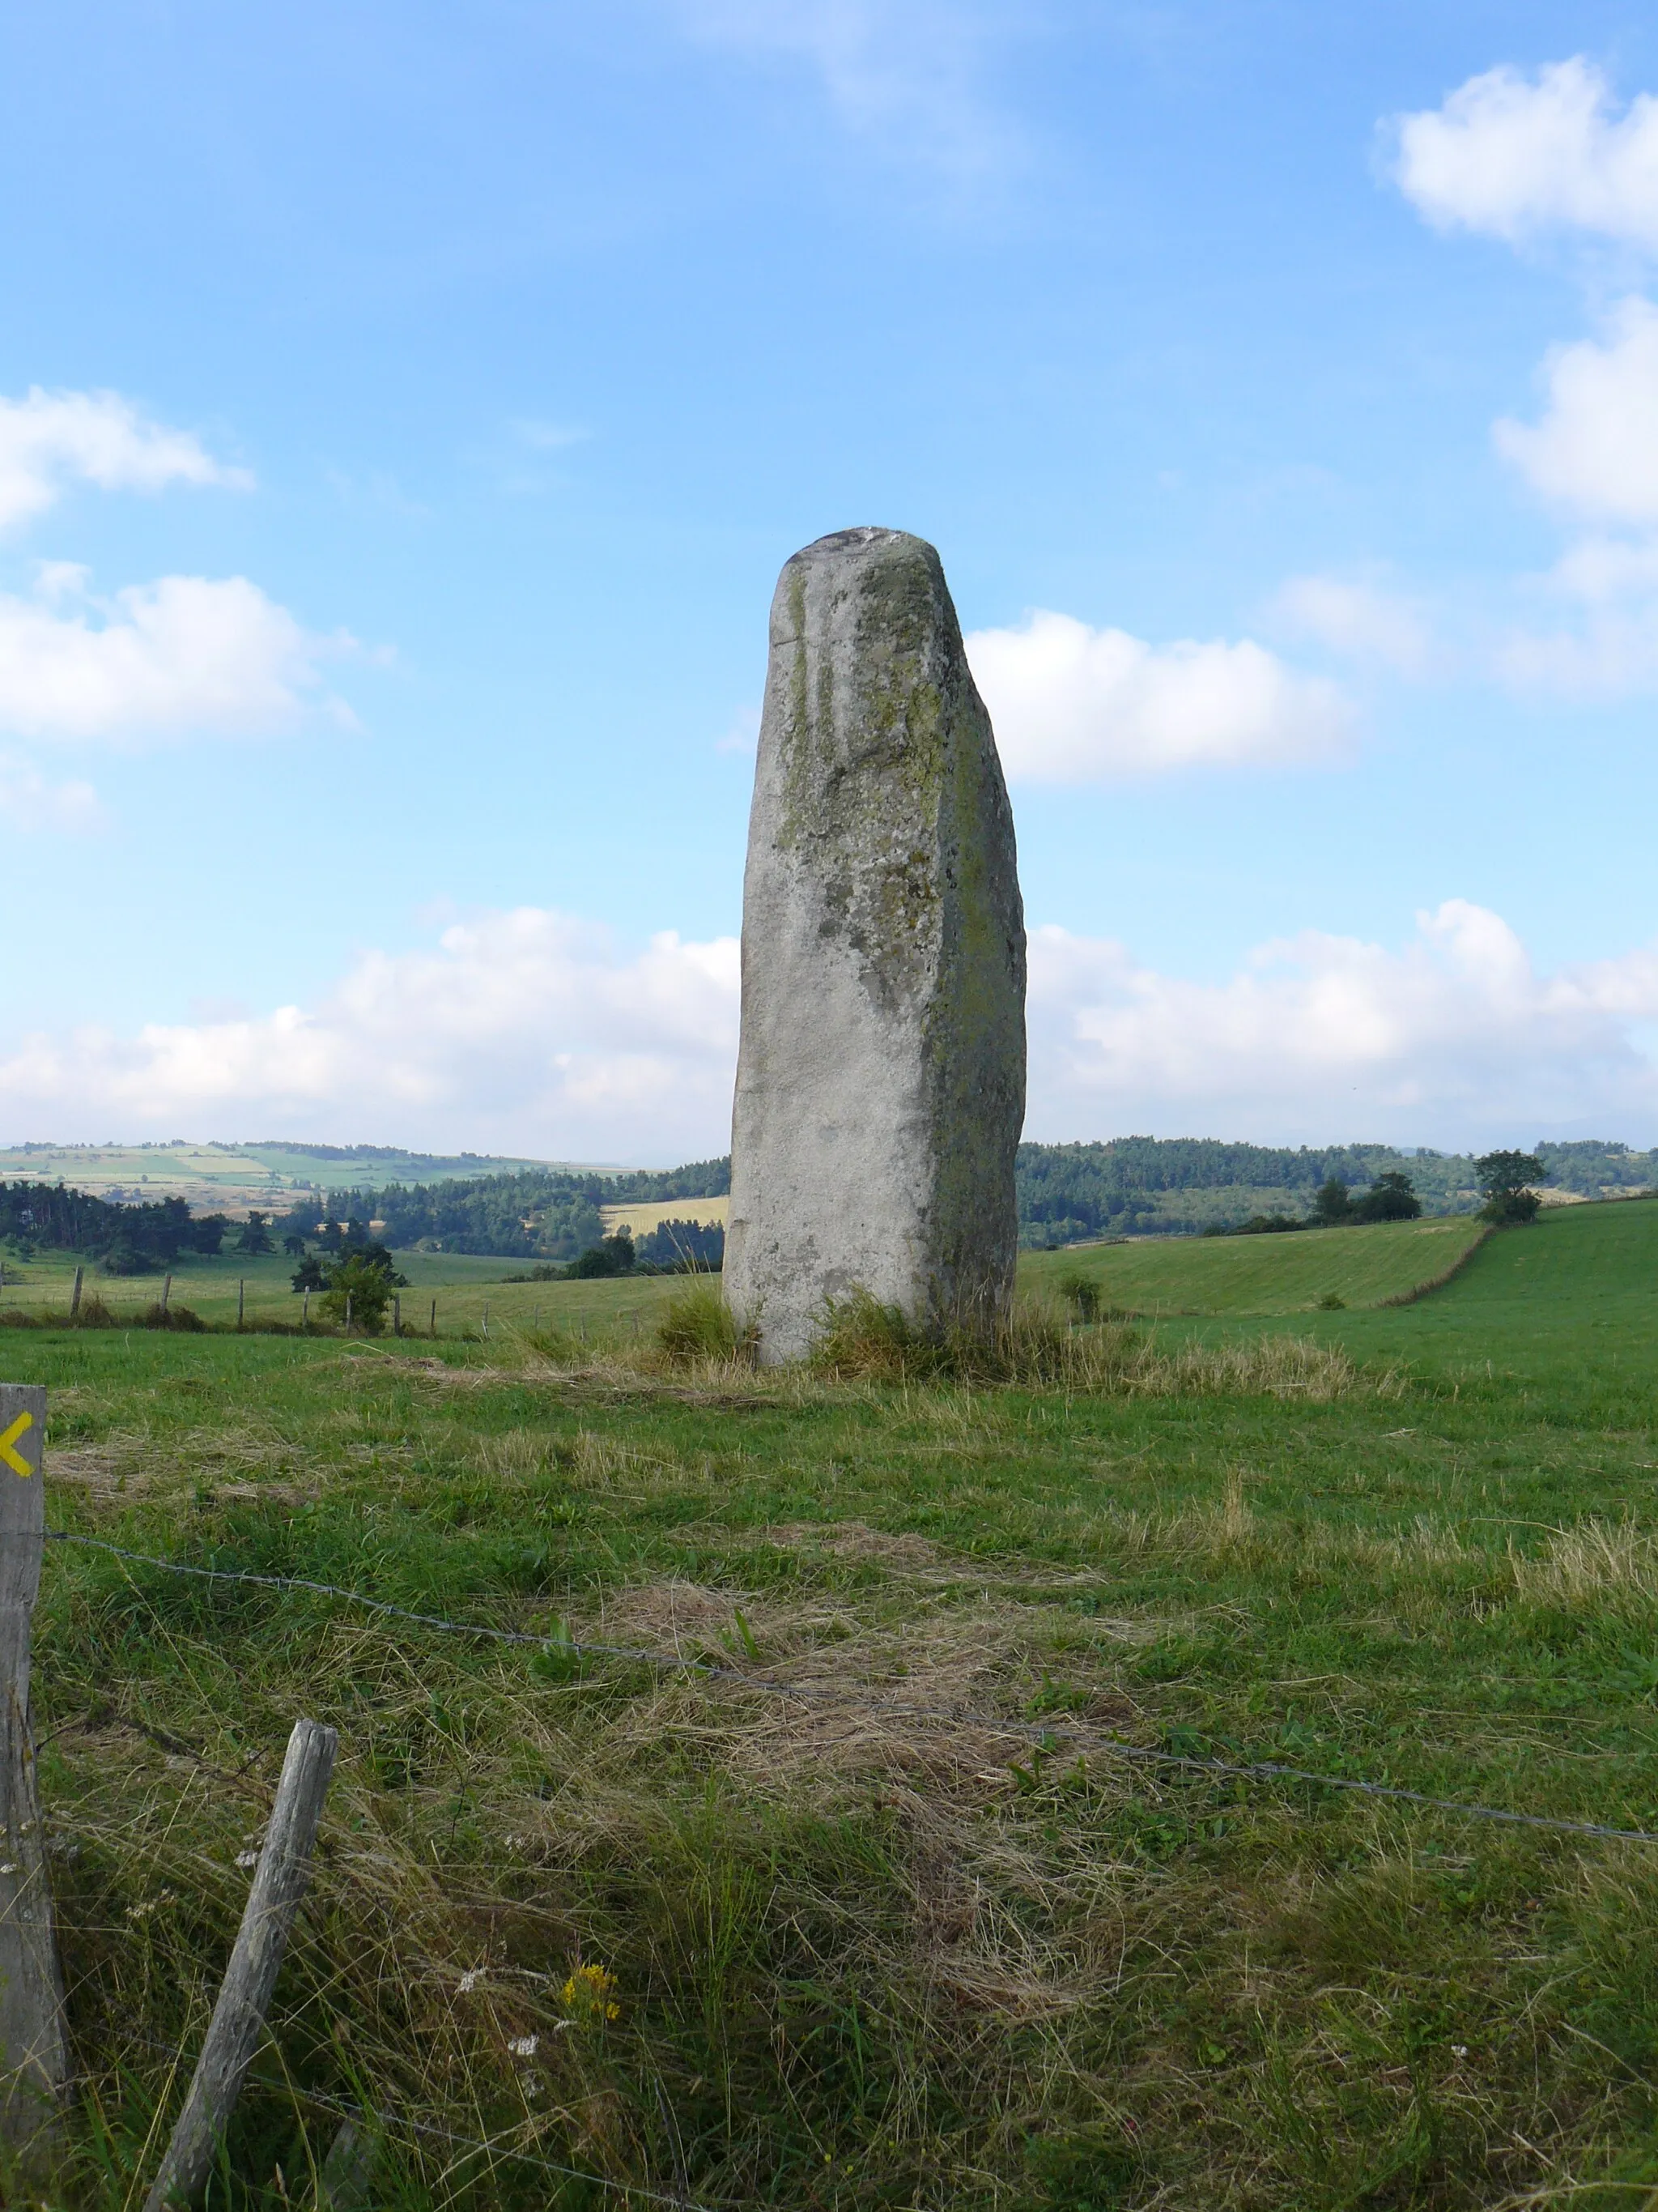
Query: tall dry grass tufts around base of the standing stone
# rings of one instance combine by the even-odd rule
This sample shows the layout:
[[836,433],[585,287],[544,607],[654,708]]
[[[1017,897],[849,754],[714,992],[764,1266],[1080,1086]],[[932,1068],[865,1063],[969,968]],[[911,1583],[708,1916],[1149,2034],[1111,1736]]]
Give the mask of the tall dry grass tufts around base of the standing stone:
[[[743,1338],[721,1292],[699,1285],[670,1303],[652,1354],[674,1367],[738,1367],[752,1360],[752,1338]],[[1397,1374],[1366,1374],[1340,1347],[1304,1336],[1163,1347],[1123,1321],[1077,1325],[1035,1301],[1019,1301],[990,1332],[928,1332],[867,1290],[825,1301],[805,1367],[827,1383],[940,1380],[1147,1396],[1340,1398],[1353,1389],[1402,1389]]]

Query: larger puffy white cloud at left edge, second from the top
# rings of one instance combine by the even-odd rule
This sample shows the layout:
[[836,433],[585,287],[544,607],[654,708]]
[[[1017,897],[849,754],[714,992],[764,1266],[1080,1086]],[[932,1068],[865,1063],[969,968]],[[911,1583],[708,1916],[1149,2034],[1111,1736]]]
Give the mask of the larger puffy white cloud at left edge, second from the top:
[[84,584],[86,571],[51,562],[31,597],[0,593],[0,730],[31,739],[274,730],[316,699],[318,664],[345,644],[309,637],[239,575],[164,575],[104,604],[86,602]]

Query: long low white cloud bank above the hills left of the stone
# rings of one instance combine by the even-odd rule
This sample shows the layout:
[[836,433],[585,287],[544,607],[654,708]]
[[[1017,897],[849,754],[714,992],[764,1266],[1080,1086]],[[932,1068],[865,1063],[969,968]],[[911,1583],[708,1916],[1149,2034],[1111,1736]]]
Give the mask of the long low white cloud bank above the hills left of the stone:
[[259,1121],[683,1159],[730,1141],[736,993],[734,938],[668,931],[621,958],[562,914],[484,914],[436,947],[365,953],[314,1011],[24,1037],[0,1060],[0,1117],[13,1133]]

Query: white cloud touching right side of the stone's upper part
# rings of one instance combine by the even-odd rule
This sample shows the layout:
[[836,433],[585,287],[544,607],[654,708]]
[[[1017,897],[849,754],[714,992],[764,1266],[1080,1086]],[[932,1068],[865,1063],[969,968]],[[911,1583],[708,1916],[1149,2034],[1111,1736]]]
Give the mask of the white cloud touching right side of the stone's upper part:
[[1012,779],[1096,783],[1176,768],[1273,768],[1346,752],[1353,710],[1251,639],[1147,646],[1037,611],[966,639]]

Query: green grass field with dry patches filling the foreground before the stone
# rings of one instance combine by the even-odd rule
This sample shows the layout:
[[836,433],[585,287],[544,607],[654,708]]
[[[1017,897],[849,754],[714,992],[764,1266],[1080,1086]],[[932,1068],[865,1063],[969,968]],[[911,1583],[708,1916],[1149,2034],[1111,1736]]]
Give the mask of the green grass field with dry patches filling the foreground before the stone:
[[1207,1298],[1156,1340],[1238,1358],[1092,1396],[679,1374],[615,1323],[0,1336],[51,1524],[555,1639],[49,1546],[80,2081],[29,2201],[141,2199],[309,1712],[340,1765],[217,2205],[314,2203],[356,2104],[411,2212],[1651,2205],[1658,1845],[1110,1750],[1658,1832],[1658,1206],[1406,1307],[1295,1312],[1320,1241],[1216,1241],[1289,1274],[1200,1292],[1130,1250]]

